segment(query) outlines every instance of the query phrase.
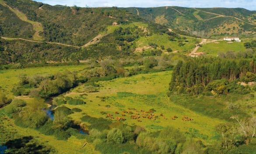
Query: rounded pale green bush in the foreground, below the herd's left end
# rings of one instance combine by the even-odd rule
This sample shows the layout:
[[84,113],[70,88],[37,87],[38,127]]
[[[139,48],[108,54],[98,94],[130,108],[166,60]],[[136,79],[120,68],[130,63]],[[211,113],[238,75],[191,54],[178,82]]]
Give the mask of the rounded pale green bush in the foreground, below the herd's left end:
[[121,144],[124,142],[124,137],[121,130],[113,128],[107,133],[107,141],[115,144]]

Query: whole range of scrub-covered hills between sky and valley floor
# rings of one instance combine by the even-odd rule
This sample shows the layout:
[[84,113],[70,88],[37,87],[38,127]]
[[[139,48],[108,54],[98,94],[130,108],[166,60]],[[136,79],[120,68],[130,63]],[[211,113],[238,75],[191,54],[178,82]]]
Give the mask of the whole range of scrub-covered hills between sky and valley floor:
[[256,31],[256,12],[242,8],[83,8],[0,0],[0,15],[0,64],[100,59],[152,50],[159,55],[167,48],[188,53],[197,38],[253,38]]

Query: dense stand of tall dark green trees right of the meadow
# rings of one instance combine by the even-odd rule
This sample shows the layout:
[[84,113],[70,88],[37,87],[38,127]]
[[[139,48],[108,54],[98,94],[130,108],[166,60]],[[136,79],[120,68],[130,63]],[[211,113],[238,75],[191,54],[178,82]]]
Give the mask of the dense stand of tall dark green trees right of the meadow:
[[[178,62],[172,74],[170,91],[198,94],[203,90],[245,92],[241,87],[228,87],[228,82],[256,80],[255,59],[195,58]],[[226,82],[227,81],[227,82]],[[236,88],[240,88],[236,90]],[[241,91],[242,90],[242,91]]]

